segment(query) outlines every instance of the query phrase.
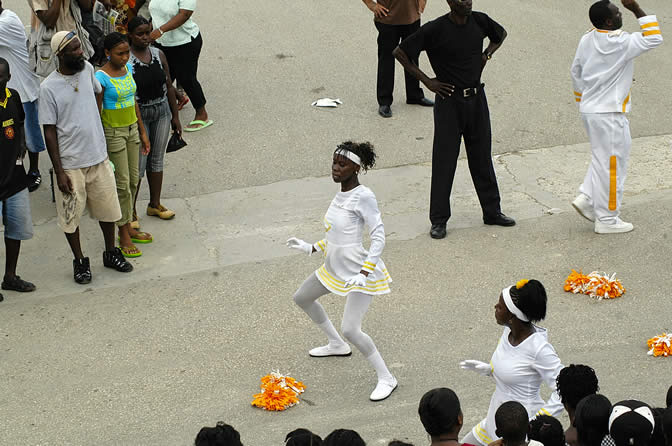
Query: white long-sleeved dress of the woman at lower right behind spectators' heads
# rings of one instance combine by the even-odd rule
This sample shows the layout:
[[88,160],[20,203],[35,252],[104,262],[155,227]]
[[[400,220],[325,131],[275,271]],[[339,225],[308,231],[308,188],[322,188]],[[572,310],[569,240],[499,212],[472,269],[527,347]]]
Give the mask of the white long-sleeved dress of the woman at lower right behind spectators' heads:
[[[495,412],[502,403],[518,401],[531,418],[537,414],[557,416],[563,410],[556,391],[555,379],[562,363],[548,342],[545,328],[534,326],[535,332],[520,344],[509,342],[511,329],[506,327],[492,354],[490,366],[495,380],[495,392],[490,399],[488,415],[476,427],[474,435],[484,444],[497,440]],[[553,393],[548,401],[541,398],[541,384],[546,383]]]

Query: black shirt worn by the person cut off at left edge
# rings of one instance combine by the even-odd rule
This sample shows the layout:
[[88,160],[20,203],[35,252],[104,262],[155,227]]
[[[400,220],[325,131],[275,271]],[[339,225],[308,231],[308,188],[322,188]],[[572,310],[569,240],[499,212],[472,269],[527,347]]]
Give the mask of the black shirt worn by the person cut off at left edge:
[[[23,149],[23,121],[25,114],[21,96],[9,89],[7,106],[0,104],[0,200],[6,200],[22,191],[30,183],[23,165],[16,165],[16,159]],[[3,95],[4,96],[4,95]]]

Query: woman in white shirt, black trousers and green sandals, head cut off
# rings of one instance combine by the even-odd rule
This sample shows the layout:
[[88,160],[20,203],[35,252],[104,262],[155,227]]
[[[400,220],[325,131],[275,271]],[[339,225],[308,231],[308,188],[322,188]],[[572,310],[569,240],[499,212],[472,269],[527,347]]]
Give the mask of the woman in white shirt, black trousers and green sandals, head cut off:
[[166,55],[171,78],[177,79],[196,110],[194,119],[184,127],[185,132],[196,132],[213,124],[208,119],[205,94],[197,76],[203,38],[191,18],[195,10],[196,0],[152,0],[149,4],[154,26],[150,37]]

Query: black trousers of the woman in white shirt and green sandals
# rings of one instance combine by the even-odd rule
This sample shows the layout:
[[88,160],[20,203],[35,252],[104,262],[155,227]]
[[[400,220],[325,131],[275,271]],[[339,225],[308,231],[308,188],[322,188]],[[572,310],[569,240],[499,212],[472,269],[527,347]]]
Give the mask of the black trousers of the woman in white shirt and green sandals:
[[198,58],[203,48],[203,38],[199,33],[191,42],[178,46],[163,46],[156,44],[165,53],[170,66],[170,77],[184,88],[196,110],[206,103],[203,88],[198,82]]

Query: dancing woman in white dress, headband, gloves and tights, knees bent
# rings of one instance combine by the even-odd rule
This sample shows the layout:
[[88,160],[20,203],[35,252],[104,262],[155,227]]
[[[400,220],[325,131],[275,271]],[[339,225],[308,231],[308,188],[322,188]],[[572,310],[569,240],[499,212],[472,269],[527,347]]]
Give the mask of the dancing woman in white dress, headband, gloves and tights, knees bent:
[[[154,0],[156,1],[156,0]],[[341,330],[343,336],[359,349],[378,375],[378,384],[371,393],[372,401],[390,396],[397,387],[385,361],[371,338],[362,331],[362,320],[373,296],[390,292],[390,278],[380,255],[385,247],[385,228],[378,210],[376,196],[371,189],[359,184],[358,174],[373,167],[376,154],[368,143],[340,144],[334,151],[331,176],[341,184],[324,216],[326,238],[315,244],[297,238],[287,240],[287,246],[311,255],[324,253],[324,265],[294,294],[294,302],[327,335],[329,343],[308,352],[312,357],[349,356],[350,346],[339,336],[324,307],[317,302],[320,296],[334,293],[346,296]],[[369,227],[371,246],[362,245],[364,225]]]

